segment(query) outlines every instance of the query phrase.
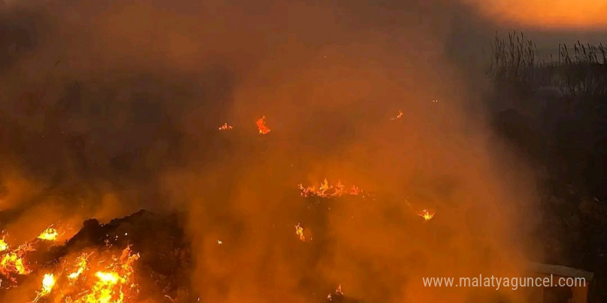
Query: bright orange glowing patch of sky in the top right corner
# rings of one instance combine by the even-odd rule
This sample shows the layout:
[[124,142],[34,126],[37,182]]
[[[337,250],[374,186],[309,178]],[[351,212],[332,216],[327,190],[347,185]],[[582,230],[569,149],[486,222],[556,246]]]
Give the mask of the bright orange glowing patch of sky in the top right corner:
[[472,1],[481,12],[504,23],[531,28],[607,28],[604,0],[495,0]]

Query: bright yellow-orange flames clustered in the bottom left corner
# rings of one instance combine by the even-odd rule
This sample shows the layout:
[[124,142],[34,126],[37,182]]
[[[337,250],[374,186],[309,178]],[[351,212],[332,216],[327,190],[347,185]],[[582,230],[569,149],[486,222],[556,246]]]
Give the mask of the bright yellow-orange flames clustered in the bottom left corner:
[[[42,240],[54,240],[59,231],[49,227],[38,237]],[[17,275],[28,275],[34,264],[26,258],[34,251],[37,242],[26,242],[16,249],[9,249],[4,240],[0,254],[0,276],[12,284],[19,281]],[[126,303],[134,302],[138,294],[133,265],[139,259],[138,253],[132,253],[130,247],[119,255],[108,249],[84,252],[80,255],[67,255],[61,262],[54,263],[51,271],[44,273],[41,288],[31,302],[61,303]],[[8,289],[11,286],[4,286]]]

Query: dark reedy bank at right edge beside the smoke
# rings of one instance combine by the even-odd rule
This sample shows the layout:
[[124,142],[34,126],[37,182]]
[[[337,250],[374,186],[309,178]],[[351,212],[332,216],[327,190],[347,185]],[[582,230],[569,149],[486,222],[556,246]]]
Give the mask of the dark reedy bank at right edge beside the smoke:
[[607,302],[607,49],[559,45],[540,60],[524,34],[497,36],[487,74],[497,133],[544,171],[543,262],[593,271],[591,302]]

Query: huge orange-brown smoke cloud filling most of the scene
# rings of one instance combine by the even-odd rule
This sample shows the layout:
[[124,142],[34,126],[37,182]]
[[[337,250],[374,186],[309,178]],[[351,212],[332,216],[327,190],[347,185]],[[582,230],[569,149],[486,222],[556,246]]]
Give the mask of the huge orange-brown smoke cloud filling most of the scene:
[[[470,113],[485,87],[461,50],[490,24],[470,6],[54,1],[2,15],[3,223],[187,211],[206,302],[312,302],[337,284],[365,302],[520,299],[421,284],[524,270],[533,188]],[[299,197],[324,178],[378,194]]]

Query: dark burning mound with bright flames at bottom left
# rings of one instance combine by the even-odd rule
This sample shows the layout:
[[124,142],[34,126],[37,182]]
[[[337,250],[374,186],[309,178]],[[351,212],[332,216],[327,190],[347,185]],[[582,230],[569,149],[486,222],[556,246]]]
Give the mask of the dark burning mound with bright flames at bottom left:
[[[166,236],[146,237],[142,232],[146,224],[168,227]],[[55,233],[59,231],[47,229],[41,236]],[[128,237],[129,233],[138,238]],[[88,220],[83,229],[63,245],[48,246],[31,241],[16,249],[7,248],[0,262],[0,300],[12,302],[15,300],[12,291],[17,286],[38,280],[38,289],[32,291],[29,302],[136,303],[151,298],[155,298],[154,302],[165,302],[167,297],[178,292],[178,286],[172,283],[187,284],[180,282],[183,278],[177,273],[186,271],[183,262],[189,259],[183,242],[175,242],[184,240],[181,235],[181,229],[175,226],[172,218],[141,211],[103,225]],[[175,239],[176,236],[179,239]],[[44,241],[54,239],[42,238]],[[151,247],[155,241],[186,255],[166,255],[164,251],[152,253],[150,250],[144,258],[145,264],[139,265],[141,254],[133,247]],[[163,266],[173,267],[169,279]],[[153,291],[150,286],[154,286]],[[146,291],[145,295],[141,295],[141,291]],[[20,297],[19,300],[23,299]]]

